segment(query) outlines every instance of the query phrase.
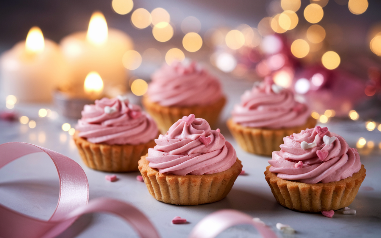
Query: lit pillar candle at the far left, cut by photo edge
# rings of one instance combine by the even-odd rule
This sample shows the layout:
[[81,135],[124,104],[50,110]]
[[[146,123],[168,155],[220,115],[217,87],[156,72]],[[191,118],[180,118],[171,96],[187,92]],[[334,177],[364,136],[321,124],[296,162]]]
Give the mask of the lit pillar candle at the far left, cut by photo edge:
[[2,96],[20,102],[49,102],[59,81],[67,78],[66,64],[56,43],[44,39],[38,27],[26,41],[17,43],[0,58]]

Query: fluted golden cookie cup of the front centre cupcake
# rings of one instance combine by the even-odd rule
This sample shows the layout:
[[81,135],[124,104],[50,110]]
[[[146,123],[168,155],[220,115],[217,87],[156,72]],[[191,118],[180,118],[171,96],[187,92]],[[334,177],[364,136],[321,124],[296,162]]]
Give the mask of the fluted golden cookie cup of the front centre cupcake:
[[237,158],[226,171],[203,175],[175,175],[159,173],[148,166],[147,155],[139,160],[139,170],[149,193],[158,201],[177,205],[198,205],[213,203],[226,197],[235,179],[242,171]]

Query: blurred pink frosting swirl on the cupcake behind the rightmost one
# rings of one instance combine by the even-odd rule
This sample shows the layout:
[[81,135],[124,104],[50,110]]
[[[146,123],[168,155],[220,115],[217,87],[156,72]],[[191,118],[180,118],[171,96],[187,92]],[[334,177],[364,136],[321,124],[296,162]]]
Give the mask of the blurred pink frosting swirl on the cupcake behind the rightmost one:
[[233,121],[242,126],[279,129],[300,126],[309,117],[307,105],[296,102],[289,89],[274,84],[271,78],[254,84],[234,105]]

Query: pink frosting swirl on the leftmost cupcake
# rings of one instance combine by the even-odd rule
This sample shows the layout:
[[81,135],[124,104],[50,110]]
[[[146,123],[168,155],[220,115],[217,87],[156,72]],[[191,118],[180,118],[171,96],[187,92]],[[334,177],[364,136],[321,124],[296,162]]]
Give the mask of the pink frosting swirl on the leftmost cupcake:
[[158,134],[154,120],[123,97],[104,97],[85,105],[75,128],[87,141],[109,145],[147,143]]

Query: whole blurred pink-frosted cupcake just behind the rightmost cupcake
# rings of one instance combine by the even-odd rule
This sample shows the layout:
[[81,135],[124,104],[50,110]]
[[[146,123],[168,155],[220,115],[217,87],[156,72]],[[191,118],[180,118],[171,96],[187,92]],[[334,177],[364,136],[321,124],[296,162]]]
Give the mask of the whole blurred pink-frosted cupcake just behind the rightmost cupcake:
[[279,150],[283,137],[315,125],[307,105],[295,101],[291,90],[275,85],[271,78],[246,91],[227,121],[243,150],[267,156]]

